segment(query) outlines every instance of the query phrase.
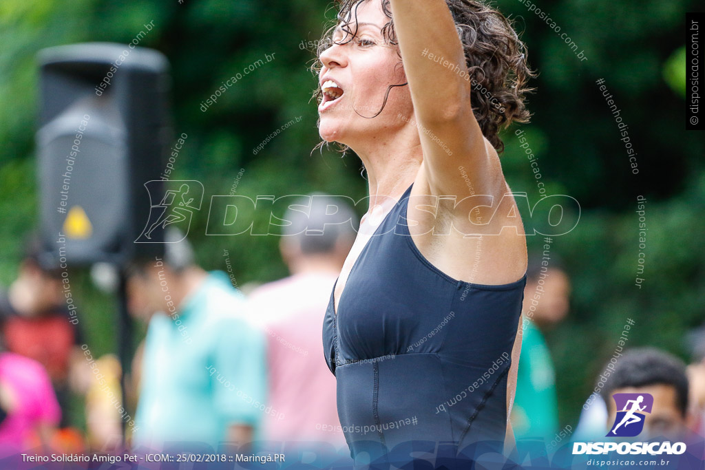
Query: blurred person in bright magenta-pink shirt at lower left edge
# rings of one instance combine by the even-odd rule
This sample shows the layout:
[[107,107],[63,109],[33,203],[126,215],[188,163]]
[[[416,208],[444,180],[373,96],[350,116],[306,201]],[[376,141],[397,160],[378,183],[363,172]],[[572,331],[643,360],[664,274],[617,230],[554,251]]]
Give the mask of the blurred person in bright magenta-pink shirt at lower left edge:
[[3,450],[46,447],[61,419],[59,402],[42,364],[11,352],[0,352],[0,407]]

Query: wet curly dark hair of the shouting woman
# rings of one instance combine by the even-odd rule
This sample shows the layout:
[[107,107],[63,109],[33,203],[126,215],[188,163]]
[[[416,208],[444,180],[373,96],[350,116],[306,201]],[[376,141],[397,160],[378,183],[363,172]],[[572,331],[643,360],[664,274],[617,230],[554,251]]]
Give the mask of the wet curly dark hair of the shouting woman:
[[[333,31],[338,25],[350,37],[348,41],[355,37],[357,30],[353,28],[357,23],[357,8],[365,1],[369,0],[336,0],[338,23],[324,32],[317,47],[319,57],[331,44],[343,44],[333,42]],[[398,46],[389,0],[381,1],[382,10],[389,18],[382,27],[382,35],[388,44]],[[504,144],[498,136],[500,128],[506,128],[513,122],[529,121],[530,113],[524,100],[525,93],[533,89],[527,88],[526,84],[535,75],[527,65],[525,44],[519,39],[510,20],[494,8],[474,0],[446,0],[446,3],[465,52],[466,77],[472,83],[472,111],[484,137],[501,152]],[[397,52],[401,59],[398,49]],[[320,61],[316,61],[312,71],[318,73],[320,68]],[[404,85],[406,83],[389,85],[382,108],[369,117],[374,118],[381,113],[393,87]],[[318,102],[322,99],[320,88],[314,92],[314,98]]]

